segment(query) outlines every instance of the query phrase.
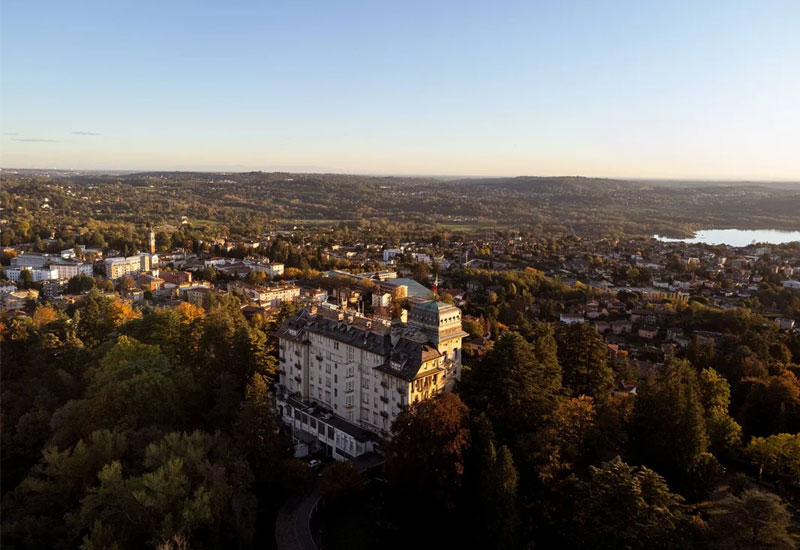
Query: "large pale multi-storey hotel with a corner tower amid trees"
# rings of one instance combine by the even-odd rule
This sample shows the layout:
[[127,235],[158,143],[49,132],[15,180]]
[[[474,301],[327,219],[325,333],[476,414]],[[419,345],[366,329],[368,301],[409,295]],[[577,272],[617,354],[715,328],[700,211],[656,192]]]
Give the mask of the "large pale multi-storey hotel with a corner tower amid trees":
[[461,311],[437,301],[414,305],[407,324],[325,306],[287,319],[276,405],[298,456],[371,451],[403,409],[453,389],[464,336]]

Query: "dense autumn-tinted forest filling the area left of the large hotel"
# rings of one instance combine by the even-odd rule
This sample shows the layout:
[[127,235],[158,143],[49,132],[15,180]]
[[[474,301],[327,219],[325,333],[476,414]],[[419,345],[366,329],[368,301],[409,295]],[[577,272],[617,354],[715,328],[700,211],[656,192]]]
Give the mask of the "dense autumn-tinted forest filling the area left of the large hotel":
[[269,334],[235,300],[143,316],[96,289],[0,323],[3,547],[272,544],[309,472],[270,409]]

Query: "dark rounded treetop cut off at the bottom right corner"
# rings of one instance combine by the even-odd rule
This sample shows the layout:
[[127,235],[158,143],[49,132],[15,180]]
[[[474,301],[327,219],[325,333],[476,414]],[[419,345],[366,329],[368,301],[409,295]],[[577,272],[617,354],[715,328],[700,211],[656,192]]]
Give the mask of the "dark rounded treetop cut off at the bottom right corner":
[[792,550],[791,516],[777,496],[745,490],[722,501],[709,520],[708,543],[716,548]]

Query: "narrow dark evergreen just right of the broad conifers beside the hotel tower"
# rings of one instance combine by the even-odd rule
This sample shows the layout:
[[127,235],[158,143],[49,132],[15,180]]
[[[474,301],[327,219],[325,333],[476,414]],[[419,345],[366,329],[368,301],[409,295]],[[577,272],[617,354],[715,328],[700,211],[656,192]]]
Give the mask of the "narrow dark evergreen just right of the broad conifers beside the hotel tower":
[[562,383],[573,396],[590,395],[605,399],[614,385],[614,371],[608,364],[608,348],[591,325],[564,325],[556,333]]

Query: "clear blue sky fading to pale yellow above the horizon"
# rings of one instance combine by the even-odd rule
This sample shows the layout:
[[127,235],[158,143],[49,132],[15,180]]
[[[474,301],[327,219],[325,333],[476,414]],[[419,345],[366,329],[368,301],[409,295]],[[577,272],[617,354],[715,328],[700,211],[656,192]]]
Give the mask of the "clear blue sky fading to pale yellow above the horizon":
[[3,0],[0,165],[800,179],[800,1]]

